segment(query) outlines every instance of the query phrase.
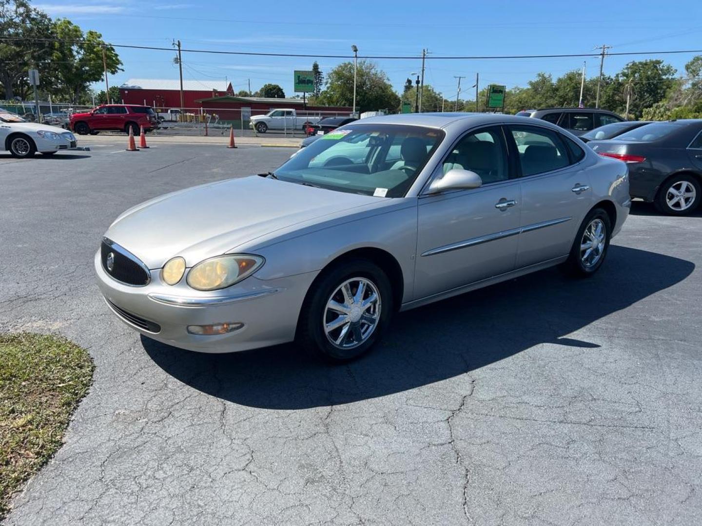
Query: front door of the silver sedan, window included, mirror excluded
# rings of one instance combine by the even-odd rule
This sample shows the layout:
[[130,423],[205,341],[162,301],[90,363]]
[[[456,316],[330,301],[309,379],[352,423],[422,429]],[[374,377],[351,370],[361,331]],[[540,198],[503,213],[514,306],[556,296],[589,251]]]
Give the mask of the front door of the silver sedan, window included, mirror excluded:
[[415,299],[515,267],[522,196],[519,180],[510,178],[502,128],[465,135],[437,168],[436,176],[451,168],[472,170],[483,185],[420,196]]

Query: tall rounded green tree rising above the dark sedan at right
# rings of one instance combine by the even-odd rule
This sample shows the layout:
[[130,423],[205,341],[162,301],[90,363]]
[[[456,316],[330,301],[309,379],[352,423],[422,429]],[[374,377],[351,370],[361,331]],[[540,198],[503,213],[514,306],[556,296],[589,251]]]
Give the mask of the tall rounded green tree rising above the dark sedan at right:
[[640,119],[644,108],[652,107],[665,99],[668,91],[675,87],[675,68],[663,60],[640,60],[629,62],[615,76],[623,85],[631,82],[633,97],[629,112]]

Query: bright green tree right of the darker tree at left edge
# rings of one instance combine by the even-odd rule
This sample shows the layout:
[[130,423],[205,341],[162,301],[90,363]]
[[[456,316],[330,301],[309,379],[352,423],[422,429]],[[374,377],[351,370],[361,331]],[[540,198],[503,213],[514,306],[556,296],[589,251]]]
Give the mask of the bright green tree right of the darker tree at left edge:
[[52,72],[59,94],[74,104],[81,95],[88,93],[93,82],[104,79],[102,50],[105,50],[107,72],[114,75],[122,71],[122,62],[117,51],[102,40],[95,31],[85,34],[70,20],[61,18],[53,24],[53,32],[59,41],[52,43]]

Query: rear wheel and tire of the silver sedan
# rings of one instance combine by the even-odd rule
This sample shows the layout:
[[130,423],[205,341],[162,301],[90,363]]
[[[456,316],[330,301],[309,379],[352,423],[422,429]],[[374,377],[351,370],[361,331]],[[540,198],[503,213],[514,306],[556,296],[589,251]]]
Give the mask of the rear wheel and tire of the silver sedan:
[[563,263],[567,274],[575,278],[594,275],[607,256],[611,238],[611,221],[602,208],[593,208],[578,229],[568,259]]

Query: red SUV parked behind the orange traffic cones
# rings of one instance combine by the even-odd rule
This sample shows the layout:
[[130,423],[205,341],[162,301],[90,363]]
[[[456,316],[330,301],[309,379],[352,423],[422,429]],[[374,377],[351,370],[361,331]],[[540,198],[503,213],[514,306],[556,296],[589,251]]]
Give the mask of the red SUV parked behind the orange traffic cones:
[[102,130],[117,130],[134,135],[139,134],[140,126],[145,131],[159,126],[154,110],[136,104],[103,104],[86,113],[74,113],[69,118],[70,128],[79,135],[98,133]]

